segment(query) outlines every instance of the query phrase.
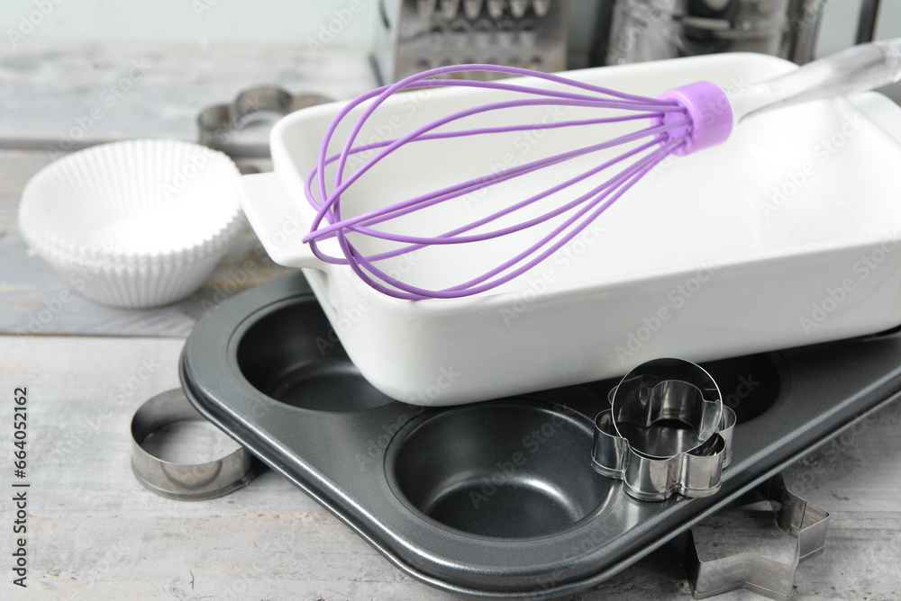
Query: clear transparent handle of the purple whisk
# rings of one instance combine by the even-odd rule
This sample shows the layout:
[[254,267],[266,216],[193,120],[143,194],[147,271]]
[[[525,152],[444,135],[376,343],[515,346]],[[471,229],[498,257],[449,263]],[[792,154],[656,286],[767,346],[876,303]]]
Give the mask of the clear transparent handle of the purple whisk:
[[899,80],[901,38],[860,44],[784,76],[733,90],[733,117],[739,123],[771,109],[872,90]]

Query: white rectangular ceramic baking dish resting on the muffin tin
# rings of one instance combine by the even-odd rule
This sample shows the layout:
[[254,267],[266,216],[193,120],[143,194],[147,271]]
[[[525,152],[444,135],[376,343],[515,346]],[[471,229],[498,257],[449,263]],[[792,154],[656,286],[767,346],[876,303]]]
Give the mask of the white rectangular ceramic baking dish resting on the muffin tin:
[[[567,75],[655,96],[697,80],[741,87],[791,68],[778,58],[723,54]],[[492,94],[400,94],[389,117],[372,121],[360,139],[396,137]],[[304,178],[340,107],[316,106],[279,121],[271,137],[275,172],[242,177],[240,194],[268,254],[304,268],[350,358],[395,399],[493,399],[617,376],[660,356],[706,361],[901,324],[901,107],[880,94],[755,117],[723,146],[655,169],[531,272],[492,292],[428,301],[375,292],[346,265],[319,262],[301,242],[314,215]],[[578,111],[568,110],[567,118]],[[541,122],[545,113],[537,111],[528,117]],[[559,152],[578,144],[549,137],[526,148],[521,135],[446,140],[437,161],[418,149],[406,153],[345,193],[342,207],[363,210],[421,178],[453,182],[472,165],[524,162],[535,158],[531,148]],[[557,176],[544,170],[547,181]],[[531,185],[517,181],[507,192]],[[428,252],[393,260],[398,274],[425,284],[497,262],[467,251],[452,261]],[[333,342],[316,341],[323,349]]]

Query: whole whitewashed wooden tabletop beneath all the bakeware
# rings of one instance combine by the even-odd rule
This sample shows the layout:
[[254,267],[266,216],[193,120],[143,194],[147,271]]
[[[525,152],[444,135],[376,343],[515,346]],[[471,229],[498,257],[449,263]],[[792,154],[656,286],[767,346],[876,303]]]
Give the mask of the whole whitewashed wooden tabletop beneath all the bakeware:
[[[228,49],[40,49],[0,55],[0,598],[447,599],[396,570],[350,530],[266,472],[232,495],[185,503],[132,477],[129,424],[150,396],[178,386],[184,339],[203,301],[284,273],[252,232],[194,297],[155,310],[115,310],[77,297],[27,333],[65,283],[29,256],[16,227],[23,185],[50,162],[60,129],[89,110],[132,60],[154,67],[87,141],[196,139],[194,117],[243,87],[273,83],[347,97],[372,82],[365,58]],[[265,161],[256,162],[265,168]],[[234,275],[250,262],[251,277]],[[221,291],[221,292],[220,292]],[[220,292],[220,296],[216,296]],[[28,588],[12,584],[13,391],[28,389]],[[889,406],[786,472],[792,488],[832,512],[826,552],[798,572],[798,598],[901,597],[901,404]],[[733,512],[696,527],[705,552],[774,558],[793,539],[769,519]],[[678,570],[641,561],[588,599],[687,599]],[[747,591],[725,599],[760,598]]]

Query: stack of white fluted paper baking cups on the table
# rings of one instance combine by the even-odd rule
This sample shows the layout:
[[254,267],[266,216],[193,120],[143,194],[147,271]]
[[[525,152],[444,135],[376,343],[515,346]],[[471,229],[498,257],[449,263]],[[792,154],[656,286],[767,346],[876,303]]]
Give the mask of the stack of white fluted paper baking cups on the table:
[[[88,298],[120,307],[177,301],[202,285],[243,225],[237,166],[178,140],[82,150],[25,186],[29,246]],[[89,277],[85,277],[85,275]]]

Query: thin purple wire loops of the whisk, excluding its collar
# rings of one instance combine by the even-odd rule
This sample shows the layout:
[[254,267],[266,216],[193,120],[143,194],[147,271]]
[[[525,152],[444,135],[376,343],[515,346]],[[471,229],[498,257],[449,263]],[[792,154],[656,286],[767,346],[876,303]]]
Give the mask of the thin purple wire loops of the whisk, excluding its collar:
[[[509,75],[534,76],[557,85],[575,87],[583,92],[573,93],[559,89],[545,89],[507,82],[484,82],[461,79],[429,79],[432,76],[441,76],[447,73],[460,71],[484,70]],[[493,103],[485,103],[470,107],[460,112],[442,117],[420,126],[396,139],[378,140],[369,144],[356,144],[360,131],[363,129],[369,117],[384,103],[388,97],[397,91],[412,87],[448,87],[469,86],[488,90],[503,91],[513,94],[529,94],[538,96],[534,98],[518,98]],[[597,94],[597,96],[592,95]],[[347,139],[344,140],[341,150],[329,154],[328,147],[341,122],[364,103],[367,104],[358,120],[355,121]],[[579,108],[596,108],[603,110],[622,111],[624,114],[615,116],[597,117],[589,119],[576,119],[569,121],[551,122],[536,126],[534,124],[515,124],[491,127],[472,128],[469,130],[438,130],[442,126],[460,121],[473,115],[484,112],[506,111],[517,107],[537,106],[566,106]],[[378,165],[390,154],[396,152],[409,143],[435,140],[452,139],[463,136],[487,135],[495,133],[509,133],[522,130],[559,129],[567,127],[580,127],[587,125],[618,123],[647,119],[651,126],[633,133],[619,136],[605,142],[588,145],[561,152],[551,157],[542,157],[520,166],[509,166],[491,175],[483,175],[475,179],[445,186],[430,193],[423,193],[401,202],[379,207],[371,211],[363,211],[349,218],[341,217],[341,195],[348,191],[350,186],[358,182],[361,175]],[[364,282],[389,296],[400,299],[420,300],[424,298],[460,298],[479,292],[486,292],[503,283],[524,274],[543,260],[553,255],[566,245],[572,238],[578,236],[587,225],[595,220],[610,205],[612,205],[623,193],[641,180],[654,166],[657,166],[663,158],[668,157],[678,148],[684,147],[691,136],[692,123],[687,116],[684,106],[672,99],[655,99],[633,94],[624,94],[609,90],[604,87],[589,85],[583,82],[569,80],[566,77],[552,74],[535,73],[528,69],[516,67],[498,67],[493,65],[469,65],[439,67],[425,71],[416,76],[410,76],[394,84],[387,85],[369,94],[363,94],[357,100],[348,103],[326,130],[323,145],[318,161],[314,169],[305,179],[305,193],[307,201],[316,209],[316,215],[310,232],[304,241],[309,243],[314,255],[328,263],[349,265],[355,274]],[[437,130],[437,131],[436,131]],[[644,140],[644,141],[642,141]],[[542,192],[532,194],[523,201],[514,202],[498,211],[468,224],[445,231],[437,236],[396,234],[381,229],[374,229],[379,223],[388,220],[396,220],[413,211],[421,211],[425,208],[460,198],[469,193],[477,192],[492,185],[501,184],[514,177],[533,173],[544,167],[554,166],[575,157],[584,157],[594,152],[614,148],[623,144],[638,144],[635,148],[628,149],[623,154],[608,159],[598,166],[593,166],[581,174],[570,177],[566,181],[553,185]],[[655,148],[656,149],[653,149]],[[345,176],[350,157],[359,153],[376,151],[359,167]],[[642,153],[646,153],[642,155]],[[634,162],[623,168],[621,172],[606,179],[605,182],[596,185],[587,193],[580,194],[577,198],[562,203],[559,207],[546,211],[541,215],[520,220],[513,225],[506,225],[488,231],[473,230],[487,226],[500,220],[515,211],[539,202],[554,193],[560,193],[569,186],[587,180],[598,175],[608,167],[619,164],[626,159],[639,156]],[[329,191],[326,185],[326,166],[335,165],[334,181]],[[316,190],[314,191],[314,186]],[[572,212],[571,215],[568,215]],[[380,269],[375,263],[378,261],[401,256],[414,250],[432,245],[453,245],[482,242],[491,238],[506,236],[515,232],[521,232],[555,218],[566,216],[559,224],[552,227],[551,231],[543,234],[537,241],[524,251],[516,253],[505,260],[501,265],[488,270],[484,274],[470,278],[467,282],[457,283],[440,290],[429,290],[419,286],[400,281],[391,274]],[[380,238],[390,242],[400,243],[404,246],[393,248],[373,254],[365,254],[355,247],[349,234]],[[331,256],[319,247],[319,242],[336,238],[341,256]]]

